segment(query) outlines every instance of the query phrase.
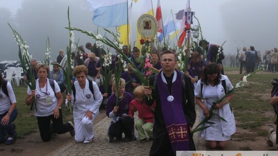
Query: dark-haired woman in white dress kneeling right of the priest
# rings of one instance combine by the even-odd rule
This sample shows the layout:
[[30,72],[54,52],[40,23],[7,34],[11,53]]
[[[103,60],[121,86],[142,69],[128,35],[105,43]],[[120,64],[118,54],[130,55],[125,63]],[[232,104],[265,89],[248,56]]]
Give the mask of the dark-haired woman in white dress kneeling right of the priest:
[[[208,122],[215,123],[203,124],[203,126],[209,127],[200,132],[200,136],[206,140],[208,148],[225,148],[227,141],[236,131],[235,117],[229,105],[234,95],[231,93],[224,100],[219,101],[226,92],[232,89],[230,80],[227,76],[220,74],[217,64],[212,63],[204,68],[201,79],[195,88],[195,101],[201,108],[200,121],[206,118]],[[214,108],[213,113],[210,113],[210,110]],[[221,120],[219,116],[225,121]]]

